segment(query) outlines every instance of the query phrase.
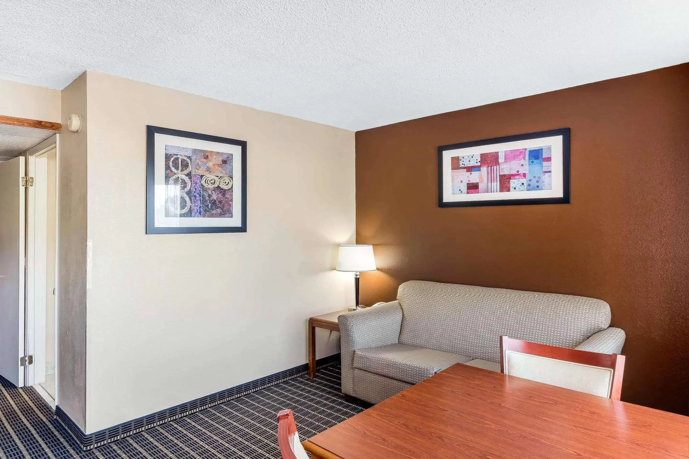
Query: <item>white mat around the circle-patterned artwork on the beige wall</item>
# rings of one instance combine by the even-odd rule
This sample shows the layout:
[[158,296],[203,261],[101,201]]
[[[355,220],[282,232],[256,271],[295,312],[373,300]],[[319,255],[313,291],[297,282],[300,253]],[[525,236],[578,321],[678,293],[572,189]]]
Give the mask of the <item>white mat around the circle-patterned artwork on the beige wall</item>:
[[[211,142],[187,137],[155,134],[155,171],[154,171],[154,225],[156,228],[183,227],[232,227],[242,226],[242,147],[227,143]],[[232,217],[231,218],[202,218],[202,217],[165,217],[165,145],[188,147],[200,150],[220,151],[232,153]]]

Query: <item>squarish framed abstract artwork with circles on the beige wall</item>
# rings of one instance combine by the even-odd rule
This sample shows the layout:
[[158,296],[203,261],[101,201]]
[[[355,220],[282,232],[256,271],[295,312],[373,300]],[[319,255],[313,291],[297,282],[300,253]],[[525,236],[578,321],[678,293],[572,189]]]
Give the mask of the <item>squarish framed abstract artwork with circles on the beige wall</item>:
[[245,233],[247,142],[146,128],[146,234]]

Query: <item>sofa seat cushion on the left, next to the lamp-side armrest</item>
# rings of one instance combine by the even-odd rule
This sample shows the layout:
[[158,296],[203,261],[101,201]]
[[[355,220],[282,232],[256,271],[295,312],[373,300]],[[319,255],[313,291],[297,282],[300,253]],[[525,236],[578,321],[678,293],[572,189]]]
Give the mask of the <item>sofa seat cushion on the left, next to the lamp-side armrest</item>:
[[416,384],[455,363],[465,363],[471,357],[417,348],[407,344],[391,344],[382,348],[354,351],[354,367],[387,376],[404,383]]

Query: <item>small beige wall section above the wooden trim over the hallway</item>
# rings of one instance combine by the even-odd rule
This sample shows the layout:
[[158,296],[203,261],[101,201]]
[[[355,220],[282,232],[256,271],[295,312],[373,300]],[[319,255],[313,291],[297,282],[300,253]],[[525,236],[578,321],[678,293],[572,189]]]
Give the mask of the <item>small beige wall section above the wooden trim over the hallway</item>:
[[0,115],[60,122],[58,89],[0,80]]

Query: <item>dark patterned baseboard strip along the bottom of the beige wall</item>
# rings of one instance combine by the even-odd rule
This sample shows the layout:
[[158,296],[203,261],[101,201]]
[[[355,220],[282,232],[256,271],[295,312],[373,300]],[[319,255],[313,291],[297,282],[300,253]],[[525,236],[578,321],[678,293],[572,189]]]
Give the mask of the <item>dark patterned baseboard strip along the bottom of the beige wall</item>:
[[[336,361],[340,361],[340,354],[334,354],[323,357],[322,359],[318,359],[316,361],[316,367],[330,365]],[[65,413],[59,406],[55,407],[55,418],[59,420],[65,429],[67,429],[67,431],[70,433],[70,435],[72,435],[74,440],[76,440],[82,449],[89,450],[101,445],[105,445],[106,443],[119,440],[120,438],[125,438],[127,436],[136,434],[150,427],[167,423],[169,420],[181,418],[182,416],[187,416],[187,414],[198,412],[201,409],[219,405],[220,403],[225,403],[226,401],[234,398],[251,394],[251,392],[265,389],[265,387],[282,383],[282,381],[287,381],[288,379],[302,376],[303,374],[307,374],[308,371],[309,364],[303,363],[302,365],[297,365],[296,367],[289,368],[288,370],[283,370],[282,372],[277,372],[269,376],[256,379],[255,381],[250,381],[249,383],[230,387],[229,389],[216,392],[215,394],[196,398],[196,400],[182,403],[181,405],[176,405],[172,408],[163,409],[159,412],[149,414],[148,416],[142,416],[141,418],[136,418],[127,421],[126,423],[108,427],[107,429],[97,431],[94,434],[84,434],[79,426],[74,423],[72,418],[70,418],[70,416],[68,416],[68,414]]]

